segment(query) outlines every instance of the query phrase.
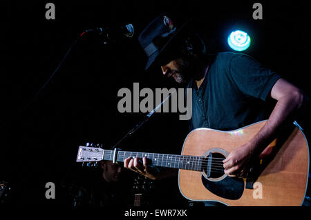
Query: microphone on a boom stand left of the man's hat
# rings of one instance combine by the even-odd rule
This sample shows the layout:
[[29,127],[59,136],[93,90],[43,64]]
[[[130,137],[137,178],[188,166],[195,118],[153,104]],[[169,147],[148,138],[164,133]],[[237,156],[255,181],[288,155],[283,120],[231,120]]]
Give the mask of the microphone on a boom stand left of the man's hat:
[[95,32],[101,35],[106,34],[106,37],[108,39],[117,38],[122,35],[131,38],[134,35],[134,27],[131,23],[129,23],[126,24],[125,26],[119,26],[117,28],[93,28],[84,30],[84,32],[85,33]]

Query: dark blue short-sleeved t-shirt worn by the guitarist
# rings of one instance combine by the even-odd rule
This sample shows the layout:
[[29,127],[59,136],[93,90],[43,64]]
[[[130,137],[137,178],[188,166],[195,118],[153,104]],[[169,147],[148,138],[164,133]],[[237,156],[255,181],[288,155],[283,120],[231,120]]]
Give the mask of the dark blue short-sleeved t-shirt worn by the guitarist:
[[190,130],[234,130],[267,117],[265,101],[281,78],[246,54],[219,52],[208,55],[211,66],[200,88],[191,80]]

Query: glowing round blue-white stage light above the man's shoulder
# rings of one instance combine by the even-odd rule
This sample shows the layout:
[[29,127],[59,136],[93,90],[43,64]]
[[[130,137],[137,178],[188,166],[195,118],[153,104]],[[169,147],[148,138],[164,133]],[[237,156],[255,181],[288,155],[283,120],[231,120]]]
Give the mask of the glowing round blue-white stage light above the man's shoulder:
[[236,51],[246,50],[250,45],[251,39],[247,32],[236,30],[228,37],[228,44],[230,48]]

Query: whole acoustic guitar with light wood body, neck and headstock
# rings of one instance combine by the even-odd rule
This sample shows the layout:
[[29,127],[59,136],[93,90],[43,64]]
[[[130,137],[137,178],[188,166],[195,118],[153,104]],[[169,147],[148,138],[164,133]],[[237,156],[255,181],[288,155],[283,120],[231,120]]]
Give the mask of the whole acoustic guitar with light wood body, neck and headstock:
[[187,135],[181,155],[79,146],[77,162],[117,163],[127,157],[147,157],[153,166],[179,169],[180,192],[192,201],[218,201],[227,206],[301,206],[308,184],[309,149],[296,122],[252,160],[246,178],[229,177],[223,171],[223,159],[252,139],[265,122],[232,131],[198,128]]

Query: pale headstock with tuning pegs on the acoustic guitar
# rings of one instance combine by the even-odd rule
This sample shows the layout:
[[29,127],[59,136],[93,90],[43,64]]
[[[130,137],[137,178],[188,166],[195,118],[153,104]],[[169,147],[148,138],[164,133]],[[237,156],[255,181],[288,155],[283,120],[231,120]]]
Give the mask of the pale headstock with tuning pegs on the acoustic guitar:
[[97,164],[98,161],[102,161],[104,157],[104,149],[100,148],[100,146],[94,147],[93,144],[86,146],[79,146],[78,153],[77,153],[77,162],[87,163],[88,166],[91,166],[91,163]]

